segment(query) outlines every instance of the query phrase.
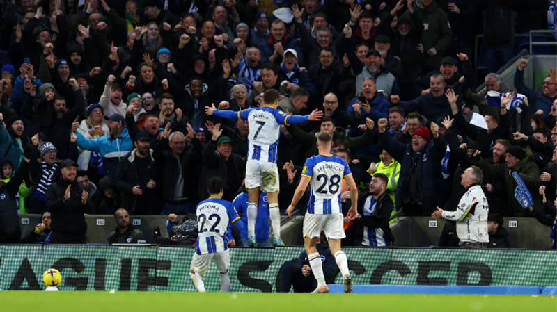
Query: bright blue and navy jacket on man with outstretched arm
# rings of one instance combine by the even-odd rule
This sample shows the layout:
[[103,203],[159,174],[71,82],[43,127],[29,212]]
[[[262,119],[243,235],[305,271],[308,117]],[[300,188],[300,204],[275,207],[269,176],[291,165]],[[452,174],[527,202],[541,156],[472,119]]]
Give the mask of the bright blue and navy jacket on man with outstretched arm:
[[127,132],[127,128],[124,128],[124,131],[118,138],[102,136],[93,140],[87,140],[81,133],[76,132],[75,134],[77,135],[77,146],[79,148],[97,151],[102,155],[104,171],[109,176],[116,174],[116,167],[120,163],[120,158],[125,157],[134,149],[134,143],[130,138],[130,133]]

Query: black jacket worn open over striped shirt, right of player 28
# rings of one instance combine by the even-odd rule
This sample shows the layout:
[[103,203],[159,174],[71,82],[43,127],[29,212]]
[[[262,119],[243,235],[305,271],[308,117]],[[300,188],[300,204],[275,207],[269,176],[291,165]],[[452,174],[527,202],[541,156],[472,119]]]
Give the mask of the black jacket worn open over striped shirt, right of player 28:
[[389,236],[392,244],[395,237],[391,232],[391,227],[389,227],[389,217],[391,217],[391,213],[393,212],[393,199],[389,196],[389,192],[384,192],[377,198],[375,211],[373,211],[371,215],[363,215],[363,205],[366,203],[366,199],[369,196],[371,196],[371,193],[368,190],[360,191],[358,194],[358,213],[361,217],[354,220],[356,240],[362,240],[363,227],[368,227],[369,229],[382,229],[382,231]]

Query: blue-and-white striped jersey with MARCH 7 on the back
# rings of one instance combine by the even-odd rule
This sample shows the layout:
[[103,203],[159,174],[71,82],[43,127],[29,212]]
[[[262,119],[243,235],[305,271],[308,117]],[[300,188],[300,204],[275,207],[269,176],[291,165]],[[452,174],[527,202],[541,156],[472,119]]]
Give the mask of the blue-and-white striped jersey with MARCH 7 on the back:
[[278,138],[281,136],[281,121],[288,115],[269,106],[251,108],[248,114],[249,149],[248,160],[276,163]]

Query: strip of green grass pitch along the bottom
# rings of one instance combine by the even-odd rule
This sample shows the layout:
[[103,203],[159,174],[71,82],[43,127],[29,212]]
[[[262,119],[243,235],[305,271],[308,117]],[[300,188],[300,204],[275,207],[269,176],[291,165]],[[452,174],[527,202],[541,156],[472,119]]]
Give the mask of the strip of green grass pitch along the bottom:
[[2,291],[3,311],[557,311],[555,295]]

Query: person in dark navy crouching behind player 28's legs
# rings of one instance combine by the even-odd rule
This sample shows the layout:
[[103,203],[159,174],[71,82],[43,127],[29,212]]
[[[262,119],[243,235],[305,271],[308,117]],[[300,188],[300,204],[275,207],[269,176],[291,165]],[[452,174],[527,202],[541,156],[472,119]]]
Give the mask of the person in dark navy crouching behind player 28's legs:
[[[334,284],[338,274],[338,265],[335,257],[331,255],[329,244],[324,240],[323,233],[321,239],[317,240],[317,252],[321,255],[323,263],[323,274],[327,284]],[[308,254],[304,250],[301,252],[296,263],[286,261],[281,271],[281,293],[290,293],[290,288],[294,288],[295,293],[311,293],[317,287],[317,279],[313,277],[308,261]]]

